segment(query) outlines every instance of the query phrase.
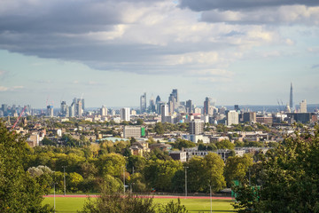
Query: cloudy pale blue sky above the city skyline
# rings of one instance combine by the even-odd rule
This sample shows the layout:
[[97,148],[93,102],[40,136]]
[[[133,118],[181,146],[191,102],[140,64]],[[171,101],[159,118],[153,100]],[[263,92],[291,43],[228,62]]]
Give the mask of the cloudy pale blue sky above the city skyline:
[[0,104],[319,103],[317,0],[1,0]]

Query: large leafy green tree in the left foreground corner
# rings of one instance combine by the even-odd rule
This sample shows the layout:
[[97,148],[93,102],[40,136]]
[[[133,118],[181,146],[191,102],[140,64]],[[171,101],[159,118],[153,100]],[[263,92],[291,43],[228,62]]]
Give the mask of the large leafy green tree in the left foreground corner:
[[28,146],[0,122],[0,212],[52,212],[42,205],[43,188],[23,169]]

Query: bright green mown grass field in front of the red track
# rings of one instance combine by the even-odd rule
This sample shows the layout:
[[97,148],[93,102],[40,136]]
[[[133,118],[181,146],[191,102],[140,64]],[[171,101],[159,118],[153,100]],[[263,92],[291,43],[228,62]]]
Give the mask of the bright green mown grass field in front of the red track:
[[[56,197],[56,212],[76,212],[77,210],[82,209],[86,198],[77,198],[77,197]],[[93,198],[94,199],[94,198]],[[168,201],[177,199],[162,199],[154,198],[154,203],[156,204],[166,204]],[[210,212],[210,200],[209,199],[181,199],[183,205],[189,212]],[[50,204],[53,207],[53,198],[46,197],[43,201],[43,204]],[[213,212],[235,212],[231,206],[232,201],[230,200],[213,200]]]

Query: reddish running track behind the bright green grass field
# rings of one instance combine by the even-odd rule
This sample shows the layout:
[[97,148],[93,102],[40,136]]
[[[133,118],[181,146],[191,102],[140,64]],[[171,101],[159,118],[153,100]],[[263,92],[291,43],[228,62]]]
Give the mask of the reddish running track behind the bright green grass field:
[[[91,194],[91,195],[87,195],[87,194],[56,194],[56,197],[74,197],[74,198],[82,198],[82,197],[98,197],[97,194]],[[54,197],[53,194],[49,194],[49,195],[45,195],[43,197]],[[173,196],[173,195],[140,195],[140,197],[146,197],[146,198],[165,198],[165,199],[210,199],[209,196]],[[231,197],[212,197],[212,199],[214,200],[232,200]]]

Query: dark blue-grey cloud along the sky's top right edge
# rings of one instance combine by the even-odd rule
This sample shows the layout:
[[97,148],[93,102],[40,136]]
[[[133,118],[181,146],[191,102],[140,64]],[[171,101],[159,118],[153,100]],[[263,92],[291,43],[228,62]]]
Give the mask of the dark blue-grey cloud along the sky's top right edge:
[[317,0],[180,0],[180,7],[189,8],[192,11],[202,12],[210,10],[242,11],[261,7],[283,6],[301,4],[306,6],[319,5]]

